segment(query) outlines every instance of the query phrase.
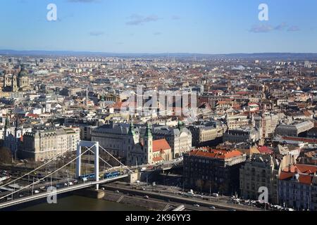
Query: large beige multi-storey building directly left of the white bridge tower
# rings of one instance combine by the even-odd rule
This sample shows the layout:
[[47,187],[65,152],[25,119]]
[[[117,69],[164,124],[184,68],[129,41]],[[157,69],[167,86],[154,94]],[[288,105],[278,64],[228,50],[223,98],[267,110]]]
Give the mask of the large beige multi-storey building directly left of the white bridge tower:
[[37,130],[25,133],[20,150],[22,158],[35,162],[49,160],[56,155],[75,151],[80,140],[79,128]]

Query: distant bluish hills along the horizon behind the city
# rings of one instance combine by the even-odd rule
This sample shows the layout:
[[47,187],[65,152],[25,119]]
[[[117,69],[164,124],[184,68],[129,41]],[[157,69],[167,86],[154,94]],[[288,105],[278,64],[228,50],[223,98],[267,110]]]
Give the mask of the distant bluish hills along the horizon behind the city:
[[0,50],[0,55],[8,56],[105,56],[105,57],[137,57],[137,58],[245,58],[259,60],[317,60],[317,53],[106,53],[91,51],[15,51]]

